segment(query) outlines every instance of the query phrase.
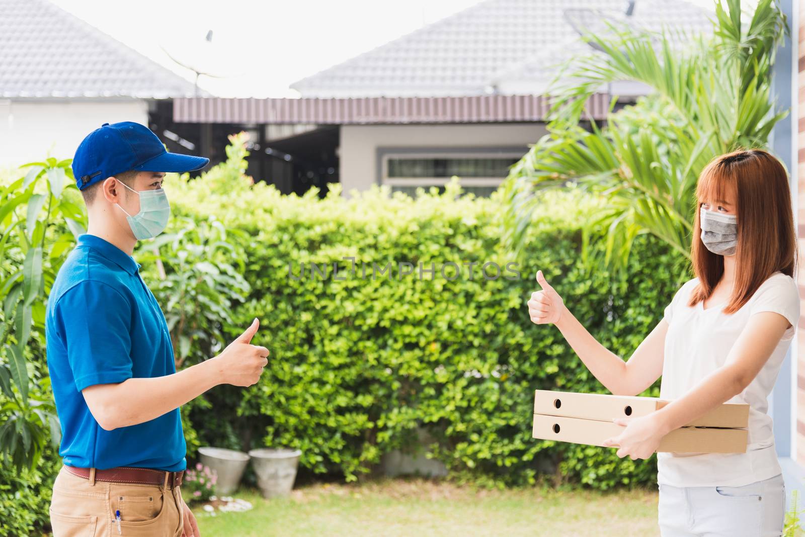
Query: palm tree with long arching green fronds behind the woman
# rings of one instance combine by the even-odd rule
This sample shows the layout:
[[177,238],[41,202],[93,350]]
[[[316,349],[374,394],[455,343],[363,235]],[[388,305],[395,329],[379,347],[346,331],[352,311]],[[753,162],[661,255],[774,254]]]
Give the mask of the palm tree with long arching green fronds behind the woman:
[[[583,35],[602,54],[576,57],[571,74],[555,77],[548,133],[513,166],[503,190],[510,248],[522,245],[539,206],[535,192],[572,182],[606,201],[588,229],[605,236],[611,268],[622,268],[634,239],[646,233],[690,256],[700,171],[730,150],[766,146],[787,113],[775,110],[770,90],[774,52],[788,32],[785,14],[774,0],[743,14],[740,0],[726,4],[716,0],[713,34],[687,36],[684,49],[665,31],[610,24],[607,35]],[[617,112],[610,106],[606,125],[582,129],[585,101],[617,80],[652,91]]]

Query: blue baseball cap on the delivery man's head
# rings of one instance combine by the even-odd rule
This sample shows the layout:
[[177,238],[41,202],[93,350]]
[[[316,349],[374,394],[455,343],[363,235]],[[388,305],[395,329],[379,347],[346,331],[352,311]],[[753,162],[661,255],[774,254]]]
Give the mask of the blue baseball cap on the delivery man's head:
[[133,121],[104,123],[81,141],[72,159],[79,190],[124,171],[184,172],[207,166],[208,158],[168,153],[145,125]]

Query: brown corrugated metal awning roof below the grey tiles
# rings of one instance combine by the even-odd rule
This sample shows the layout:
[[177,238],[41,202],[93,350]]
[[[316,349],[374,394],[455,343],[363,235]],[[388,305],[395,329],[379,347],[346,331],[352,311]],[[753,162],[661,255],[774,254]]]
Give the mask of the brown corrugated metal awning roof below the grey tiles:
[[[610,96],[605,93],[596,93],[588,100],[587,108],[593,119],[605,119],[609,100]],[[507,123],[544,121],[549,109],[547,97],[533,95],[353,99],[180,98],[173,102],[173,121],[275,125]]]

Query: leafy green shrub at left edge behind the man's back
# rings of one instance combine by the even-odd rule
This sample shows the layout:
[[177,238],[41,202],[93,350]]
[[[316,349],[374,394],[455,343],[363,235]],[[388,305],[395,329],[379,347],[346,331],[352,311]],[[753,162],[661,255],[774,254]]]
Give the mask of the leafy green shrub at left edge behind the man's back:
[[69,165],[47,158],[0,176],[0,454],[19,469],[59,436],[43,343],[47,295],[86,224]]

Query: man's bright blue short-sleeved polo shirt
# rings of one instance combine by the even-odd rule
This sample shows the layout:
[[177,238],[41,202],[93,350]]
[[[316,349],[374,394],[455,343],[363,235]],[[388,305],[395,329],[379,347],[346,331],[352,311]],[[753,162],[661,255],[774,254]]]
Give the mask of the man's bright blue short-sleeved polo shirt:
[[47,301],[45,333],[64,464],[107,469],[184,469],[179,409],[155,420],[105,431],[81,390],[176,372],[162,309],[142,281],[140,265],[93,235],[78,238]]

